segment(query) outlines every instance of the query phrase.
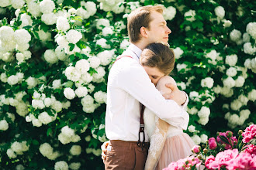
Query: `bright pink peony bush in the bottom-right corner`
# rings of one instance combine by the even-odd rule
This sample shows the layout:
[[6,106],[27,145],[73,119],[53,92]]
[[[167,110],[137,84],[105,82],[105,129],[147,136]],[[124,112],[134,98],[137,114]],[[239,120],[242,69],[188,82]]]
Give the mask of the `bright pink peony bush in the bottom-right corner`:
[[196,169],[199,165],[204,165],[206,169],[256,169],[255,128],[256,125],[251,124],[243,133],[240,130],[238,140],[231,131],[220,132],[216,139],[209,138],[202,148],[195,145],[192,151],[196,156],[171,162],[164,169]]

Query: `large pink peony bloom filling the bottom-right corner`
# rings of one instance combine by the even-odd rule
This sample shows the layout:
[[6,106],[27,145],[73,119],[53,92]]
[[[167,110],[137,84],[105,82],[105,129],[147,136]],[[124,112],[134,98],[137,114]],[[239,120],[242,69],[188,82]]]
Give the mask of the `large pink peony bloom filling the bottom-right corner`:
[[232,159],[226,168],[228,170],[254,170],[256,169],[256,163],[250,154],[242,152],[237,158]]

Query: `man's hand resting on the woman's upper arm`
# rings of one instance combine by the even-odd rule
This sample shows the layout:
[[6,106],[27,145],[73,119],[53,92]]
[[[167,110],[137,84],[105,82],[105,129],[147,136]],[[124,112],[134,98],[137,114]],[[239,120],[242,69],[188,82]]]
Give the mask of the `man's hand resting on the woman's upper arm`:
[[171,93],[163,95],[165,99],[175,100],[178,105],[182,105],[186,101],[186,95],[183,91],[178,90],[178,87],[175,84],[167,83],[166,87],[172,90]]

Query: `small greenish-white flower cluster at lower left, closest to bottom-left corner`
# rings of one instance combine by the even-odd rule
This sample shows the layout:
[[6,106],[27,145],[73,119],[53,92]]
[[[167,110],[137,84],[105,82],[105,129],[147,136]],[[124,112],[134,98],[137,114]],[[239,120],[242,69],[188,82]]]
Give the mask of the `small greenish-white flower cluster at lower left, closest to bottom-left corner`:
[[6,151],[6,154],[9,158],[16,158],[17,155],[23,155],[24,151],[29,150],[29,145],[26,144],[26,141],[15,141],[12,143],[11,148]]

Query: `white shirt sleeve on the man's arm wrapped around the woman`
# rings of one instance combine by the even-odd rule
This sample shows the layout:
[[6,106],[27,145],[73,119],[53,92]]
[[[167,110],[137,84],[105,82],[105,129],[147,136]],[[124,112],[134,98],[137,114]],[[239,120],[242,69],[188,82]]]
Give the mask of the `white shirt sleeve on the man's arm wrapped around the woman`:
[[189,114],[175,100],[165,100],[139,63],[120,71],[118,85],[157,117],[171,125],[186,128],[182,124],[189,120]]

